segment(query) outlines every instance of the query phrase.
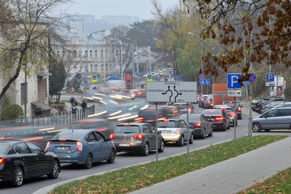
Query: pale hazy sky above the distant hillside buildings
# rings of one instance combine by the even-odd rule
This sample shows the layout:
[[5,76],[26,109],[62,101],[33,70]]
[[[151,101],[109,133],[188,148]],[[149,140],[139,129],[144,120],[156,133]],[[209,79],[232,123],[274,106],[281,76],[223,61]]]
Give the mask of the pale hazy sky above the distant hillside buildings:
[[[138,16],[141,19],[153,17],[151,0],[75,0],[70,7],[71,12],[80,15],[95,15],[95,19],[101,16]],[[178,4],[178,0],[160,0],[163,9]]]

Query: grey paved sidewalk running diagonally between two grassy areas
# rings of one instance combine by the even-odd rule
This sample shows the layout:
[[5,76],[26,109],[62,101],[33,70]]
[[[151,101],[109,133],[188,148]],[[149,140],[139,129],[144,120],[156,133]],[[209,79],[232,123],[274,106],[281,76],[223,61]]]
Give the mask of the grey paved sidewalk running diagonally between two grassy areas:
[[130,194],[236,194],[291,166],[291,137]]

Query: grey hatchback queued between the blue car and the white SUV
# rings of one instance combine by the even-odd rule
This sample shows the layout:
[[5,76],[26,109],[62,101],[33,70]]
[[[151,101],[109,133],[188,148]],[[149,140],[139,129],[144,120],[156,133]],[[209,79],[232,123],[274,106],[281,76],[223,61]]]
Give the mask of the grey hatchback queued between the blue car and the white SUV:
[[[140,152],[147,156],[156,149],[156,129],[147,123],[120,123],[110,135],[117,152]],[[158,132],[158,152],[164,151],[164,140]]]

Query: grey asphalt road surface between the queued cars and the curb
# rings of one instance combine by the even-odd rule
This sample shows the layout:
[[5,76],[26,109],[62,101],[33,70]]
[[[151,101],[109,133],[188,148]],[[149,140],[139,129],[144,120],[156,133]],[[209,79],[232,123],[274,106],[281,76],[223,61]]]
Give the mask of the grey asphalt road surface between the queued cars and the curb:
[[[198,108],[198,105],[195,104],[195,113],[200,113],[201,108]],[[248,123],[248,112],[244,111],[245,108],[243,108],[242,112],[242,120],[238,120],[238,126],[236,131],[236,137],[242,137],[247,134],[247,123]],[[259,116],[259,114],[253,112],[253,117]],[[83,129],[86,128],[86,125],[84,124]],[[284,134],[284,135],[291,135],[291,132],[289,130],[285,131],[278,131],[278,132],[260,132],[260,133],[253,133],[254,135],[263,135],[263,134]],[[190,150],[193,150],[195,148],[199,148],[202,146],[208,146],[210,144],[222,142],[225,140],[233,139],[234,138],[234,128],[231,127],[227,131],[214,131],[212,137],[207,137],[206,139],[195,139],[194,144],[189,145]],[[177,145],[166,145],[164,152],[159,153],[159,158],[168,157],[171,155],[175,155],[181,152],[187,151],[187,144],[184,144],[183,147],[178,147]],[[5,194],[31,194],[43,187],[46,187],[51,184],[55,184],[58,182],[62,182],[71,178],[78,178],[85,175],[90,175],[94,173],[104,172],[108,170],[113,170],[115,168],[120,168],[124,166],[129,166],[136,163],[141,162],[147,162],[152,161],[156,159],[156,152],[150,151],[149,155],[147,157],[143,157],[139,154],[131,154],[131,153],[117,153],[115,162],[113,164],[108,164],[107,162],[98,162],[93,164],[91,169],[83,169],[78,165],[73,164],[62,164],[62,172],[59,175],[59,178],[57,179],[48,179],[46,176],[40,177],[40,178],[32,178],[32,179],[26,179],[24,181],[24,184],[20,188],[11,188],[6,183],[0,183],[0,193]]]

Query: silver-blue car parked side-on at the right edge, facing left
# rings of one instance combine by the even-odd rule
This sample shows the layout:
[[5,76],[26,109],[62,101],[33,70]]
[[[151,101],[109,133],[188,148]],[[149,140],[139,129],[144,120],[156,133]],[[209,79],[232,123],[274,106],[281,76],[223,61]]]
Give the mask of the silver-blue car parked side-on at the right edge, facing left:
[[266,132],[273,129],[291,129],[291,107],[271,109],[262,115],[253,118],[252,130]]

